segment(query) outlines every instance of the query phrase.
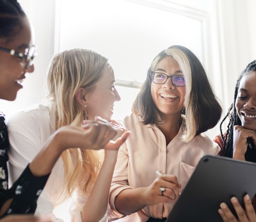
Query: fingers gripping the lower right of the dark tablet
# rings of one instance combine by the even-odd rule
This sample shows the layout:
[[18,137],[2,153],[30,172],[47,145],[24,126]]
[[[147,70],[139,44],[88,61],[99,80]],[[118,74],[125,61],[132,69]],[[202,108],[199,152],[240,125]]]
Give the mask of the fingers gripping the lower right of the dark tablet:
[[244,196],[245,210],[242,208],[236,197],[231,198],[231,203],[238,214],[239,220],[237,220],[237,218],[232,214],[232,212],[225,203],[221,203],[221,209],[219,209],[219,213],[223,221],[256,222],[255,211],[248,194]]

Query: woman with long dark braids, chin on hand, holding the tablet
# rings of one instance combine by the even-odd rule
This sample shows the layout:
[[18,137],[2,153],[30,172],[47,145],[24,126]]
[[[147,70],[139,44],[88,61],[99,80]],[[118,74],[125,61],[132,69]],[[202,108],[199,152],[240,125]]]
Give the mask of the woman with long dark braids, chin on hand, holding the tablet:
[[[256,162],[256,60],[249,63],[237,80],[234,90],[234,102],[230,106],[227,115],[221,122],[221,135],[215,138],[215,142],[222,148],[221,155],[233,159]],[[222,132],[222,124],[229,118],[226,133]],[[256,221],[255,196],[250,200],[248,195],[244,197],[246,210],[244,211],[233,197],[231,203],[236,209],[240,221]],[[253,210],[254,208],[254,210]],[[220,214],[224,221],[236,221],[226,204],[221,204]]]

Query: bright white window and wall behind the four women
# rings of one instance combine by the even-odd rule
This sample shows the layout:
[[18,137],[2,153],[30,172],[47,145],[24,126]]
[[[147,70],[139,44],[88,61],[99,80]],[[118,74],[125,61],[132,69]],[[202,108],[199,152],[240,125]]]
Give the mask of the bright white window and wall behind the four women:
[[[39,102],[52,56],[87,48],[109,58],[121,101],[113,118],[131,113],[138,86],[154,57],[170,45],[188,47],[201,60],[224,113],[234,85],[256,58],[255,0],[19,0],[35,32],[38,56],[16,101],[0,100],[7,117]],[[209,116],[210,118],[210,116]],[[207,134],[213,139],[219,125]],[[60,215],[67,210],[60,209]],[[65,212],[65,213],[64,213]]]

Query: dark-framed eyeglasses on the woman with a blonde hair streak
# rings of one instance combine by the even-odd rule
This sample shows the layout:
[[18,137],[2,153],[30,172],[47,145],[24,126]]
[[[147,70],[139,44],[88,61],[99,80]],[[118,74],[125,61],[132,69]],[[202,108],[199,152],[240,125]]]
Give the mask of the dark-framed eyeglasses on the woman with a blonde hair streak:
[[185,86],[186,85],[184,76],[181,76],[181,75],[167,76],[161,72],[153,72],[151,74],[151,77],[152,77],[152,81],[156,84],[164,84],[164,83],[166,83],[167,79],[170,78],[173,85],[175,85],[175,86]]

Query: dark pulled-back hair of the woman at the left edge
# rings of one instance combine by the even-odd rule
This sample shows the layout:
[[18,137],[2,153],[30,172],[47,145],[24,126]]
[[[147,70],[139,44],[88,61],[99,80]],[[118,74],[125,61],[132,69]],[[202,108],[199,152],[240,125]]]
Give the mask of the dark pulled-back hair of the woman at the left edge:
[[16,0],[0,0],[0,38],[8,42],[22,28],[21,18],[26,16]]

